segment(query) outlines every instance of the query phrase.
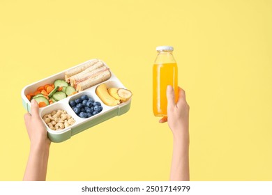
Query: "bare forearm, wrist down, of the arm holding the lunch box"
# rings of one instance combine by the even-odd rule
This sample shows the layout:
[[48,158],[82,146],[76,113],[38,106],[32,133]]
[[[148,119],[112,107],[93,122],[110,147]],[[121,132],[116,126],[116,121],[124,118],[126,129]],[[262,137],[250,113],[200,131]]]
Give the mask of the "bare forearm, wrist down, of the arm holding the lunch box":
[[50,145],[31,146],[23,180],[43,181],[46,179],[49,151]]

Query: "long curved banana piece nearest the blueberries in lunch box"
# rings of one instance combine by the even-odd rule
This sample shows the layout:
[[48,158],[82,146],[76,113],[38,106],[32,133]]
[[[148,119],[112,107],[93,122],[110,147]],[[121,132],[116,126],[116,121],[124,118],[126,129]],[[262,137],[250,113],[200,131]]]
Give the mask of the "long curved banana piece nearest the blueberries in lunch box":
[[100,84],[100,86],[96,88],[96,94],[100,100],[102,100],[102,102],[108,106],[114,107],[120,104],[119,100],[116,100],[112,97],[112,95],[109,95],[106,84]]

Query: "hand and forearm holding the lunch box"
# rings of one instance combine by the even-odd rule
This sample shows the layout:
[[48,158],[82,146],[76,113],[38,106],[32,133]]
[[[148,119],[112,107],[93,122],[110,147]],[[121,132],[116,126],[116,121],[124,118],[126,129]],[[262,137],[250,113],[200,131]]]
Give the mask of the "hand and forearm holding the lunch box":
[[50,151],[50,139],[41,120],[36,100],[31,100],[31,114],[24,115],[24,123],[30,139],[30,152],[23,180],[44,181]]

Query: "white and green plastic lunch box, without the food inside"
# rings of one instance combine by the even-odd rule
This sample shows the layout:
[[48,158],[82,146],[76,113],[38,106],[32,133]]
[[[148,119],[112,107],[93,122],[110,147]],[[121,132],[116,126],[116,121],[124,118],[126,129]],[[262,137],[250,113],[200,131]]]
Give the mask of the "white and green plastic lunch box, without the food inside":
[[[89,63],[90,61],[91,60],[86,61],[84,63]],[[75,65],[72,68],[83,65],[84,63]],[[107,64],[105,65],[107,66]],[[69,68],[67,70],[70,70],[72,68]],[[107,68],[109,67],[107,66]],[[52,84],[54,83],[56,79],[64,79],[64,73],[67,70],[63,70],[62,72],[52,75],[51,77],[47,77],[40,81],[36,81],[33,84],[29,84],[28,86],[25,86],[22,89],[22,93],[21,93],[22,104],[24,106],[24,109],[26,109],[28,112],[31,112],[31,102],[26,97],[28,93],[32,93],[33,91],[36,91],[36,89],[39,86],[45,86],[45,84]],[[119,81],[119,79],[114,75],[114,73],[111,70],[110,72],[112,76],[107,81],[103,81],[100,84],[105,83],[107,85],[107,88],[111,88],[111,87],[126,88],[125,86],[123,86],[121,81]],[[69,127],[63,130],[51,130],[46,125],[45,121],[42,119],[47,129],[48,137],[52,142],[66,141],[67,139],[70,139],[70,137],[74,136],[75,134],[78,134],[86,129],[89,129],[90,127],[93,127],[94,125],[98,125],[99,123],[103,123],[105,120],[108,120],[109,118],[112,118],[114,116],[120,116],[122,114],[125,114],[130,109],[131,98],[127,102],[123,102],[114,107],[109,107],[106,104],[104,104],[102,100],[100,100],[98,95],[96,95],[96,88],[100,84],[92,86],[91,88],[87,88],[84,91],[80,91],[79,93],[76,93],[75,95],[68,96],[67,98],[64,98],[63,100],[54,102],[53,104],[50,104],[46,107],[42,107],[39,109],[40,118],[43,118],[45,114],[50,114],[52,111],[57,111],[61,109],[61,110],[67,111],[67,113],[70,114],[70,116],[72,116],[75,119],[75,123],[73,125],[70,125]],[[73,109],[70,107],[69,101],[80,98],[80,96],[82,95],[88,95],[89,97],[93,98],[93,100],[100,102],[103,107],[103,110],[100,113],[94,116],[91,116],[90,118],[80,118],[80,116],[77,116],[77,114],[75,114]]]

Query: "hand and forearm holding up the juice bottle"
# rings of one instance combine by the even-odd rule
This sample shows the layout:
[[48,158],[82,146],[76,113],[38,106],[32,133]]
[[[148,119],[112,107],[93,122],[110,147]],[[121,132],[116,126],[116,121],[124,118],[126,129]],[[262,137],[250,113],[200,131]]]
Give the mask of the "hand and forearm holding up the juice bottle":
[[167,117],[160,123],[168,122],[173,134],[173,155],[170,180],[190,180],[189,173],[189,105],[186,94],[179,88],[179,99],[175,102],[174,89],[167,86]]

